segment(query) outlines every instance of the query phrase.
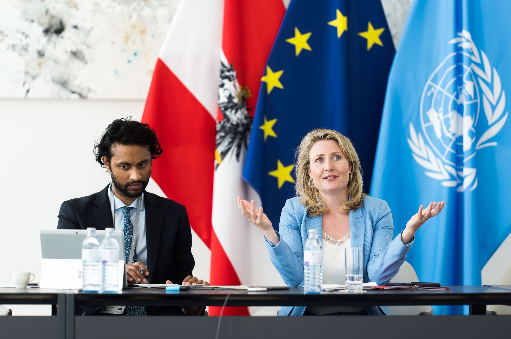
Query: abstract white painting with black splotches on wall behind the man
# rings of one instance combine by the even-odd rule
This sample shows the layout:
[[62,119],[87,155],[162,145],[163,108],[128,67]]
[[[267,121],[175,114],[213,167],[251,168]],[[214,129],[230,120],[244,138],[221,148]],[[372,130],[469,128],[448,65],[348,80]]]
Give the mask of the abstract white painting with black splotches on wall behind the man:
[[178,0],[6,0],[0,98],[145,99]]

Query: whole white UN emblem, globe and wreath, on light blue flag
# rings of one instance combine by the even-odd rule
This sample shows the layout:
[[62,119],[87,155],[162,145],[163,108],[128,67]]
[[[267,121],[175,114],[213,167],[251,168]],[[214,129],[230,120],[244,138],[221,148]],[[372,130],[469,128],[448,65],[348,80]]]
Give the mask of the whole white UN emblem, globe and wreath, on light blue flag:
[[495,137],[508,112],[497,70],[469,31],[457,35],[449,41],[456,44],[455,52],[440,62],[424,86],[422,132],[410,122],[407,141],[424,174],[464,192],[477,188],[476,153],[497,146]]

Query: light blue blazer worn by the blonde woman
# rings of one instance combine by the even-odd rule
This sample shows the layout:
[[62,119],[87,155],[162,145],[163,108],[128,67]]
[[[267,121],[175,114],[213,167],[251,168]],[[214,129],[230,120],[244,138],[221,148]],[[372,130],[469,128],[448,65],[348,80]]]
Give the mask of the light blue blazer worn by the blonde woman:
[[[273,246],[266,239],[270,260],[288,286],[303,286],[304,244],[309,230],[322,234],[322,217],[312,217],[294,197],[286,201],[278,227],[281,240]],[[384,200],[366,196],[362,206],[350,212],[351,245],[364,248],[364,282],[388,282],[405,261],[415,238],[403,245],[401,233],[392,240],[393,231],[390,208]],[[318,238],[322,241],[321,236]],[[283,306],[278,315],[303,315],[305,309]],[[365,310],[367,314],[388,314],[387,306],[368,306]]]

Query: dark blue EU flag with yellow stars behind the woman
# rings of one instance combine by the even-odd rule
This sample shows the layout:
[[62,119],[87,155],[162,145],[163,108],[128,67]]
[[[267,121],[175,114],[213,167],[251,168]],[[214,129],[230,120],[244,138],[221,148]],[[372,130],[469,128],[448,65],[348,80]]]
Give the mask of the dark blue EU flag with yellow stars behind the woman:
[[355,144],[370,183],[395,50],[380,0],[293,0],[262,77],[243,178],[278,229],[294,196],[294,153],[314,128]]

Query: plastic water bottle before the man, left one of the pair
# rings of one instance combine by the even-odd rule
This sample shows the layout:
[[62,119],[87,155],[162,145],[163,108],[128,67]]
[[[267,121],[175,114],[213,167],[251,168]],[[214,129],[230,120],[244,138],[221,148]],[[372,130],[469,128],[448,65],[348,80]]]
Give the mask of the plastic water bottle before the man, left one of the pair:
[[96,292],[100,290],[100,258],[101,249],[96,238],[96,229],[87,228],[87,237],[82,243],[82,291]]

